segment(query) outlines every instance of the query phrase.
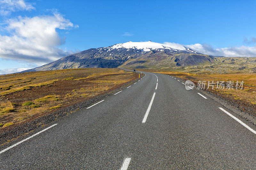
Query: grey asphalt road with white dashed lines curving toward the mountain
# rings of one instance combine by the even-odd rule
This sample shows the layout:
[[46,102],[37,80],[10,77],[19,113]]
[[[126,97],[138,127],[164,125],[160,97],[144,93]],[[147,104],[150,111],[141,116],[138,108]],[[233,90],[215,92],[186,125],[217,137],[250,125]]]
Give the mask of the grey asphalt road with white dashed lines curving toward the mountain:
[[255,126],[178,80],[145,72],[1,151],[0,168],[256,169]]

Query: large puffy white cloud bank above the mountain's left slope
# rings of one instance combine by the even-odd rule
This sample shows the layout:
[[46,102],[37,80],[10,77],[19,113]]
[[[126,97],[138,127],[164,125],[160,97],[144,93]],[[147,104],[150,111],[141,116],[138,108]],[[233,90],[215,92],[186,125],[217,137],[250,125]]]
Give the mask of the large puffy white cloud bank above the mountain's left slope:
[[73,24],[62,15],[18,17],[9,19],[5,29],[10,36],[0,34],[0,57],[44,64],[69,55],[57,46],[65,42],[56,29],[68,30]]

